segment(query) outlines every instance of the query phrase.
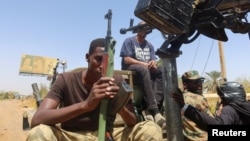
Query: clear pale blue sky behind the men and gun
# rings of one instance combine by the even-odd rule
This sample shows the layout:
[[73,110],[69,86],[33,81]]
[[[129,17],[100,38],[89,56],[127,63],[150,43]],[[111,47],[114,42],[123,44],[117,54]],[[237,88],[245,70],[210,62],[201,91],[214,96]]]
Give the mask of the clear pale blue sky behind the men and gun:
[[[46,76],[20,75],[23,54],[58,58],[67,61],[66,71],[87,67],[85,54],[90,42],[107,34],[104,15],[112,10],[111,35],[116,40],[115,69],[121,68],[119,52],[131,32],[120,34],[140,19],[134,15],[137,0],[0,0],[0,92],[32,94],[32,83],[49,86]],[[223,42],[226,75],[229,81],[250,76],[250,40],[247,34],[226,30],[229,40]],[[147,36],[155,49],[164,39],[158,30]],[[176,58],[177,73],[197,70],[220,71],[218,41],[200,35],[184,44]],[[62,66],[57,68],[63,72]]]

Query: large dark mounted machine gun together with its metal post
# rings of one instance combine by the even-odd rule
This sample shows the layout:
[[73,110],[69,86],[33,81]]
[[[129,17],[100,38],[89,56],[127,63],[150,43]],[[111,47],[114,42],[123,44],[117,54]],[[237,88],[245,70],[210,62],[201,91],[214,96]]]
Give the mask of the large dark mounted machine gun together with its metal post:
[[[195,7],[195,8],[194,8]],[[247,13],[250,11],[250,0],[205,0],[194,5],[194,0],[139,0],[134,14],[145,21],[150,29],[158,29],[165,38],[156,54],[162,58],[164,84],[164,103],[167,119],[169,141],[183,141],[180,109],[170,94],[178,90],[176,57],[182,44],[193,42],[199,35],[227,41],[225,29],[233,33],[248,33],[250,24]],[[135,33],[141,29],[130,21],[128,29]]]

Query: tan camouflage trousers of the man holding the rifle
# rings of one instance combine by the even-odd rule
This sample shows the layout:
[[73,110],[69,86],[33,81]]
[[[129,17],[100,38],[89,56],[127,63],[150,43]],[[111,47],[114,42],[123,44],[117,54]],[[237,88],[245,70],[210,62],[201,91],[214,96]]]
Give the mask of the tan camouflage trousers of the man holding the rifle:
[[[58,126],[41,124],[32,128],[26,141],[98,141],[98,131],[70,132]],[[133,127],[115,127],[115,141],[161,141],[161,128],[152,121],[143,121]]]

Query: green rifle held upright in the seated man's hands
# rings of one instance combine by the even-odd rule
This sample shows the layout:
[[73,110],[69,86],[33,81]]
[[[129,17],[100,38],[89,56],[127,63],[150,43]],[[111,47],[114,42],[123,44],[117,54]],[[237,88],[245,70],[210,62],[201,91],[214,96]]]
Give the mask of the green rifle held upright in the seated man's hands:
[[[105,19],[108,19],[108,30],[106,35],[105,42],[105,52],[103,54],[103,76],[113,77],[114,73],[114,53],[115,53],[115,43],[116,41],[111,37],[111,18],[112,11],[109,9],[108,13],[104,16]],[[108,99],[103,99],[100,105],[100,114],[99,114],[99,128],[98,128],[98,141],[105,141],[107,138],[111,141],[109,133],[106,133],[106,113],[108,106]]]

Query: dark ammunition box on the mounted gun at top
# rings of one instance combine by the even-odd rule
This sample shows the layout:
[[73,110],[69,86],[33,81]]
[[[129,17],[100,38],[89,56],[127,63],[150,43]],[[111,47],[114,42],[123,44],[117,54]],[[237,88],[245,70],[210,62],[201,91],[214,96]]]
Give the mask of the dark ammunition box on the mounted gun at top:
[[165,34],[181,34],[189,29],[193,0],[139,0],[134,14]]

